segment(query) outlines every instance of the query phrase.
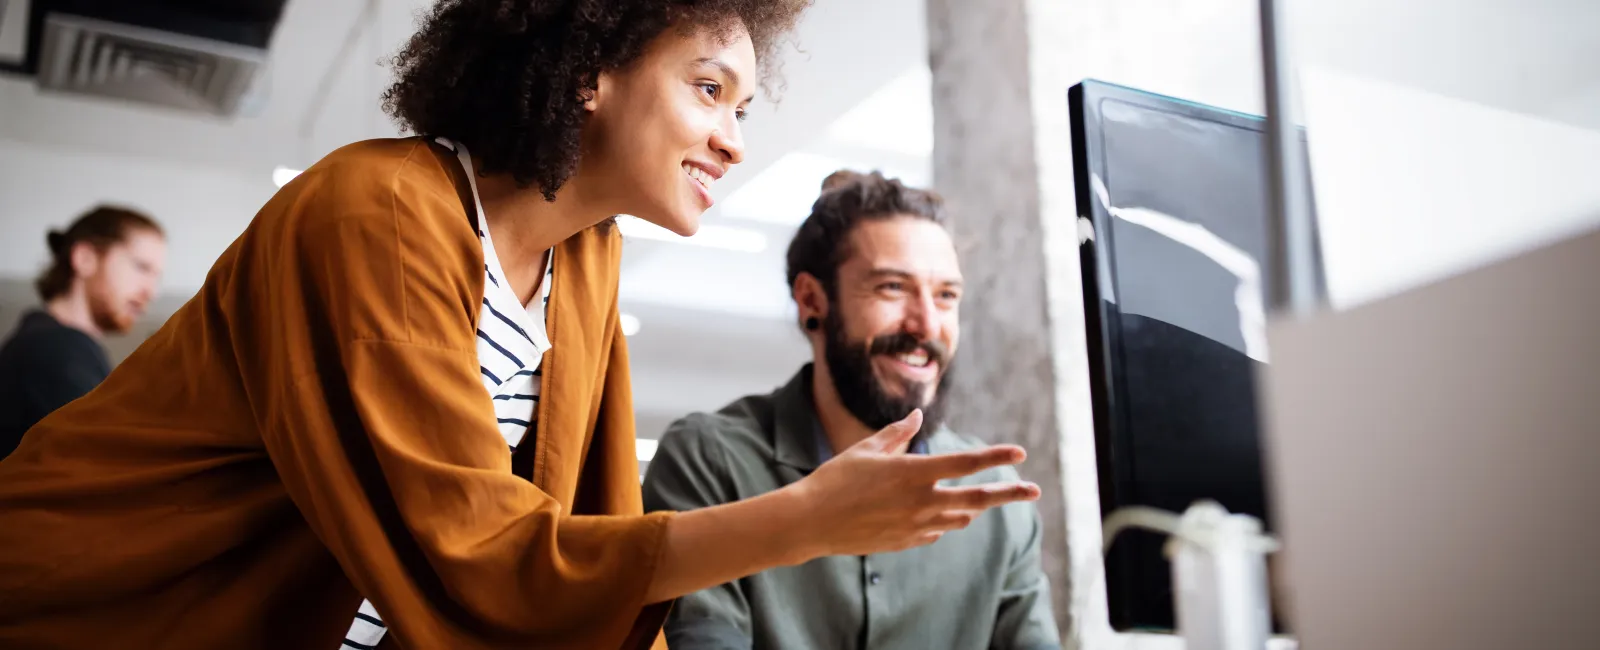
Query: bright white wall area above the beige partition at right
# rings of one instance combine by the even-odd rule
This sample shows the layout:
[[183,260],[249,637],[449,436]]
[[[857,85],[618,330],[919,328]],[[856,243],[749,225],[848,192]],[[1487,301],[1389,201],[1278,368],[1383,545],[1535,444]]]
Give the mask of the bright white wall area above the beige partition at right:
[[1334,309],[1600,224],[1600,130],[1331,70],[1301,77]]

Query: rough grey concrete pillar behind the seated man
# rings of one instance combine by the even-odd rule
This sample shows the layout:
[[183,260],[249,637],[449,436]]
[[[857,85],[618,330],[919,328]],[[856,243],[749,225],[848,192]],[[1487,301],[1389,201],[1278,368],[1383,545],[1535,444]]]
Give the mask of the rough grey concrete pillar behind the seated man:
[[[949,200],[966,277],[950,424],[989,442],[1027,448],[1021,472],[1045,492],[1038,501],[1043,564],[1056,623],[1069,634],[1075,621],[1066,500],[1075,495],[1064,480],[1070,471],[1064,455],[1069,442],[1059,432],[1080,419],[1072,415],[1088,408],[1090,400],[1086,386],[1072,381],[1072,368],[1059,363],[1070,357],[1066,352],[1075,328],[1053,327],[1082,314],[1070,304],[1070,291],[1053,291],[1078,282],[1075,219],[1070,203],[1046,205],[1026,5],[928,0],[933,184]],[[1061,227],[1069,229],[1066,237],[1054,232]]]

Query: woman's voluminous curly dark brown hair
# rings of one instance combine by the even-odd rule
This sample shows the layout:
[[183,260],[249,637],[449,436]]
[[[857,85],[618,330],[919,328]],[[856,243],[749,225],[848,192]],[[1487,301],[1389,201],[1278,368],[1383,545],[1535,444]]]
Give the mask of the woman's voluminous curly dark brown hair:
[[384,110],[453,138],[546,200],[578,170],[584,98],[670,27],[750,34],[762,88],[781,86],[778,45],[811,0],[442,0],[394,58]]

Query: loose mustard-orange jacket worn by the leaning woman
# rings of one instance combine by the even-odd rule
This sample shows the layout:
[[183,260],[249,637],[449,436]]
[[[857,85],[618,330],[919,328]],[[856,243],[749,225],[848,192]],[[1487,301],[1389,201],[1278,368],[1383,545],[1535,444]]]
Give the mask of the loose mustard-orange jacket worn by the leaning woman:
[[478,378],[470,203],[418,138],[272,197],[0,463],[0,647],[334,650],[363,596],[386,645],[651,645],[672,516],[640,506],[621,235],[555,248],[538,442],[514,459]]

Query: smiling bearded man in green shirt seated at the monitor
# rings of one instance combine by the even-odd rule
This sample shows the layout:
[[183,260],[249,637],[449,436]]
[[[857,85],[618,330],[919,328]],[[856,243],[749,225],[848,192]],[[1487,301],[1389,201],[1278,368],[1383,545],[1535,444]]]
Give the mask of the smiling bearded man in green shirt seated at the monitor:
[[[878,173],[838,171],[822,183],[787,266],[811,363],[771,394],[674,423],[645,475],[646,511],[778,490],[918,408],[923,427],[907,453],[982,447],[942,424],[962,272],[938,195]],[[1003,467],[952,485],[1014,480]],[[1059,648],[1038,512],[1010,504],[971,516],[970,527],[925,548],[822,557],[685,596],[667,642],[674,650]]]

